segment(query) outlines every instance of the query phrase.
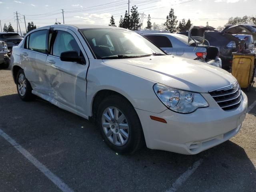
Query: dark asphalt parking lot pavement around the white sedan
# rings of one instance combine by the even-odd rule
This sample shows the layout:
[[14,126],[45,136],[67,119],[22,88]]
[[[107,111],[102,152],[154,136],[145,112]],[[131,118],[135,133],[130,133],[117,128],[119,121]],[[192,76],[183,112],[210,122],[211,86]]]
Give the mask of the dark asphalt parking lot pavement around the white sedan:
[[[256,85],[246,94],[255,104]],[[20,100],[10,70],[0,70],[0,130],[0,192],[256,192],[256,106],[234,138],[200,154],[120,155],[87,120]]]

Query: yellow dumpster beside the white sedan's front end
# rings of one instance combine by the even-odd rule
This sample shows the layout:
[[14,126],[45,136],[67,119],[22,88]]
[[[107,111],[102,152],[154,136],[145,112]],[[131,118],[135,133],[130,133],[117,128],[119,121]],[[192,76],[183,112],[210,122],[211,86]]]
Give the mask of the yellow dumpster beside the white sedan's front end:
[[246,91],[249,91],[254,83],[255,68],[255,54],[233,53],[231,74],[237,79],[241,88],[246,88]]

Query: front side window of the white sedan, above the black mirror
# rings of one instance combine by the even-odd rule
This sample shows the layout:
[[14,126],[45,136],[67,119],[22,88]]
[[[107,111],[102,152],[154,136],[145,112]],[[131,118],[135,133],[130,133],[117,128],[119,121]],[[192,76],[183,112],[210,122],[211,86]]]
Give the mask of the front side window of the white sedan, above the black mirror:
[[78,55],[81,54],[81,50],[75,38],[69,32],[57,31],[57,36],[53,43],[52,54],[59,57],[62,52],[66,51],[77,51]]

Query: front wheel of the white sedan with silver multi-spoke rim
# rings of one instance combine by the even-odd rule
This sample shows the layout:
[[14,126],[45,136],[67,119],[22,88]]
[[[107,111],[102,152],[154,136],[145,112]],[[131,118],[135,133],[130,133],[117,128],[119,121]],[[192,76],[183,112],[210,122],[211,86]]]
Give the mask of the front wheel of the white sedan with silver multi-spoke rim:
[[[112,117],[114,116],[112,120],[110,120],[110,110]],[[138,115],[130,102],[122,96],[112,95],[100,103],[97,122],[102,138],[115,152],[131,154],[144,143]],[[114,135],[116,135],[116,139]]]

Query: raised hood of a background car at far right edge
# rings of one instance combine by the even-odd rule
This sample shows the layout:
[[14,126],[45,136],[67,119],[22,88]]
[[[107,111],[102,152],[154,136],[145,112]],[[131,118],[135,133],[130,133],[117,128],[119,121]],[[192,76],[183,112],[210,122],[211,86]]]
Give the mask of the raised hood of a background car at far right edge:
[[256,27],[249,24],[241,24],[241,25],[229,25],[226,26],[221,32],[221,34],[247,34],[251,35],[256,33]]

